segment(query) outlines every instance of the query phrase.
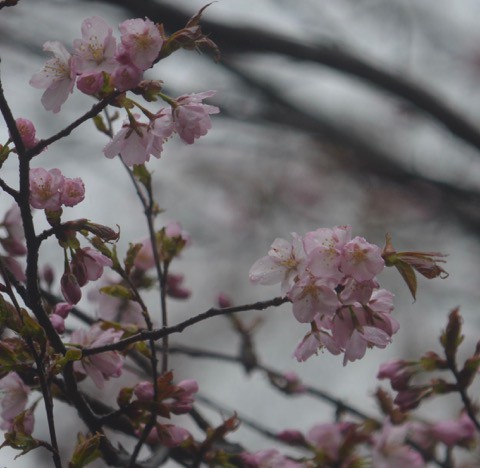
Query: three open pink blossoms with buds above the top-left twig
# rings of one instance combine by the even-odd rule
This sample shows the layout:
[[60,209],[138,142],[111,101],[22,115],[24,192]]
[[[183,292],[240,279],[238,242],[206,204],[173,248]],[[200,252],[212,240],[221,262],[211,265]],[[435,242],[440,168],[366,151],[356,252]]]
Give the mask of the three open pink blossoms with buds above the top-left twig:
[[111,80],[126,91],[140,83],[143,72],[157,58],[163,39],[157,26],[148,19],[131,19],[119,26],[120,43],[112,28],[98,16],[87,18],[81,26],[82,38],[73,41],[71,54],[58,41],[48,41],[43,49],[53,54],[30,84],[45,89],[42,104],[59,112],[68,95],[77,87],[85,94],[98,93]]

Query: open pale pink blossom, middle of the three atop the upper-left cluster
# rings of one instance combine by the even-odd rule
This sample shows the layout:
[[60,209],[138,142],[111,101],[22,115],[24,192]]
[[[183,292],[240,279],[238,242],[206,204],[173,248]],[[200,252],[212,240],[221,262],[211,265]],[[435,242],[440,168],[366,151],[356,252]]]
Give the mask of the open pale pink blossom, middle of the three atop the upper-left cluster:
[[112,28],[99,16],[82,23],[82,39],[73,41],[75,70],[79,74],[107,72],[116,66],[116,41]]

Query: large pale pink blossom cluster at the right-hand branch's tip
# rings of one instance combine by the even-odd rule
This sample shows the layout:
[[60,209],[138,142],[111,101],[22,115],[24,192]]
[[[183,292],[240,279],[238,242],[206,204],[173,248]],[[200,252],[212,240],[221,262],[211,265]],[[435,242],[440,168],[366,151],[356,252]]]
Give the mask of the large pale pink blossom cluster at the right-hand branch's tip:
[[391,316],[393,294],[379,289],[376,280],[385,266],[380,247],[363,237],[352,239],[350,226],[292,236],[292,242],[275,239],[268,255],[252,266],[250,280],[280,282],[295,318],[310,323],[296,359],[305,361],[326,348],[344,353],[345,365],[369,347],[387,346],[399,325]]

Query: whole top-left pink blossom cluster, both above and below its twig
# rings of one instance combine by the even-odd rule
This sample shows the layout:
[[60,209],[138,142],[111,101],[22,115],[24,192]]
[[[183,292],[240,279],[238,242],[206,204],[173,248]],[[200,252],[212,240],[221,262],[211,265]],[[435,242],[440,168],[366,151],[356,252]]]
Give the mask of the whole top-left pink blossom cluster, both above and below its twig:
[[[143,73],[158,59],[165,42],[161,28],[149,19],[137,18],[124,21],[119,30],[117,44],[112,28],[94,16],[83,21],[82,38],[73,41],[72,53],[57,41],[44,44],[44,50],[53,53],[53,58],[32,77],[30,84],[45,89],[42,96],[45,109],[59,112],[75,83],[81,92],[94,96],[102,90],[125,92],[141,84]],[[152,86],[160,88],[159,84]],[[158,94],[169,107],[151,113],[139,106],[148,122],[129,111],[128,119],[104,149],[107,158],[121,154],[128,166],[143,164],[151,155],[159,158],[163,143],[173,133],[192,144],[212,127],[210,114],[219,112],[217,107],[202,102],[213,96],[214,91],[176,99]]]

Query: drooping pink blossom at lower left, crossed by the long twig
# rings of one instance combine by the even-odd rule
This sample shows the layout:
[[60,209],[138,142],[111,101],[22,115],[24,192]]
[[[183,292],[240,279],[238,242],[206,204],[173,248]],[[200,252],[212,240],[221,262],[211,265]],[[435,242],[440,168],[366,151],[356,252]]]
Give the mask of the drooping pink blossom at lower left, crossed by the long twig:
[[[113,328],[102,330],[98,325],[93,325],[88,331],[75,330],[71,336],[71,342],[88,348],[116,343],[123,335],[123,331]],[[88,375],[98,388],[103,388],[105,381],[110,377],[119,377],[122,373],[123,358],[116,351],[106,351],[82,358],[75,361],[74,367],[77,372]]]

